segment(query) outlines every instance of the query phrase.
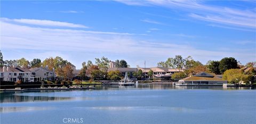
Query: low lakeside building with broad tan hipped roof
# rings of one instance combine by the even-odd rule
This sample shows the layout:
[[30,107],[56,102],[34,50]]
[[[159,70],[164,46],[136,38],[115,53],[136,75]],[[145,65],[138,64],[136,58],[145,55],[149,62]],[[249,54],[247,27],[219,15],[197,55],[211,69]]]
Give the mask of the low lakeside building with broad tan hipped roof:
[[180,86],[190,86],[190,85],[214,85],[214,86],[222,86],[223,84],[227,84],[228,82],[219,78],[215,74],[209,74],[205,72],[197,73],[196,75],[190,75],[189,77],[180,79],[176,85]]

